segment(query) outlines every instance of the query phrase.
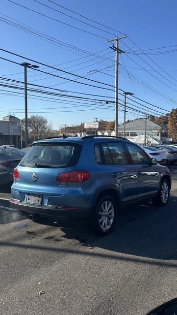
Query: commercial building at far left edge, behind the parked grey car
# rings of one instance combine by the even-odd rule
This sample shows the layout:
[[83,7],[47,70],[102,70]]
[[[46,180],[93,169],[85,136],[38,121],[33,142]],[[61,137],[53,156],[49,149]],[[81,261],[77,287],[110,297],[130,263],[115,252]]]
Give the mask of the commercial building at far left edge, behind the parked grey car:
[[0,121],[0,145],[13,144],[20,148],[20,119],[12,115]]

